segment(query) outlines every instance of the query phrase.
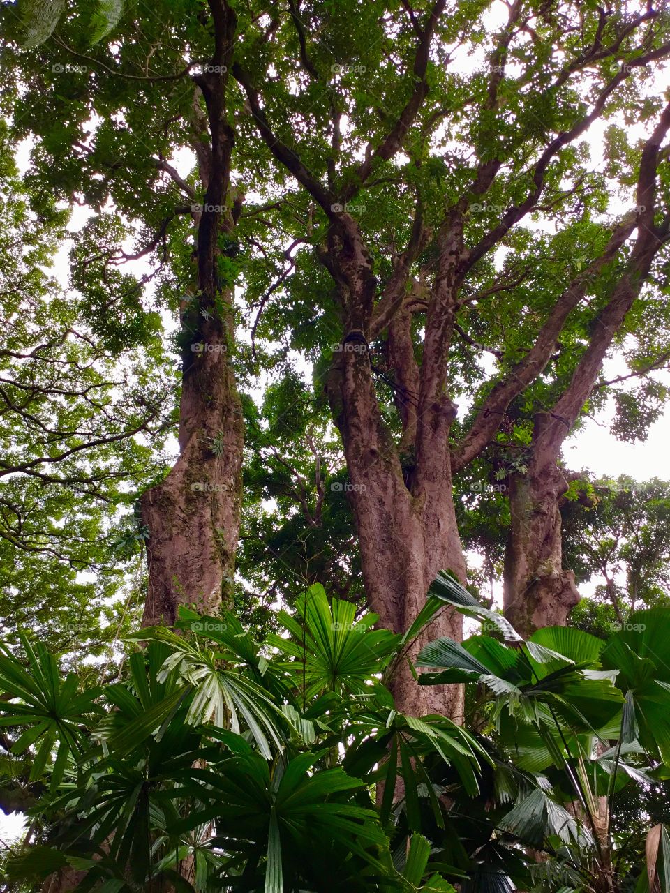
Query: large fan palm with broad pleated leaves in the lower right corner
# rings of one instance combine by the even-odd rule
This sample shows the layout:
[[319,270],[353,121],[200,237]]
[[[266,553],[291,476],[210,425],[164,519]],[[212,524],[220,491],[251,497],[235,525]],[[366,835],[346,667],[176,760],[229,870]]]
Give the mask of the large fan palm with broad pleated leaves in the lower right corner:
[[[447,574],[431,593],[491,628],[490,612]],[[667,778],[670,612],[636,612],[607,640],[549,627],[522,641],[505,624],[494,629],[507,642],[439,639],[417,665],[436,671],[420,684],[479,689],[482,728],[508,760],[497,797],[513,805],[496,838],[527,845],[533,857],[542,851],[526,866],[538,890],[599,893],[635,879],[636,893],[670,889],[666,828],[655,826],[640,847],[614,834],[612,821],[628,786],[649,789]]]

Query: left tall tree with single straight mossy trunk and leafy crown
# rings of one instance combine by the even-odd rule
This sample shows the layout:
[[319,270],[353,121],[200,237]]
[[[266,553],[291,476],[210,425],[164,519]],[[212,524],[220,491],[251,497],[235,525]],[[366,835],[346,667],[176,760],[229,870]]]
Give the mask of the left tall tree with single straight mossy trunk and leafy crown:
[[[26,2],[3,14],[5,71],[12,62],[25,84],[13,132],[35,140],[34,193],[93,212],[71,261],[90,325],[121,350],[143,301],[179,314],[180,457],[142,497],[144,622],[172,622],[180,602],[214,610],[230,597],[242,455],[232,306],[241,195],[230,187],[227,99],[235,14],[214,0],[188,10]],[[180,175],[180,150],[197,158],[196,174]],[[144,264],[134,278],[133,262]]]

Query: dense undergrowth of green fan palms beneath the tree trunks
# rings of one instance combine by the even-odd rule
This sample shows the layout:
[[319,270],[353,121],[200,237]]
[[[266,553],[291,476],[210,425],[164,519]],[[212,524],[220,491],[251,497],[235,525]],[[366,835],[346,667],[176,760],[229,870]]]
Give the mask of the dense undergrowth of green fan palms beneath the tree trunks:
[[[417,684],[468,685],[469,729],[398,714],[386,684],[446,607],[492,634],[431,642]],[[122,893],[665,891],[665,826],[626,839],[613,821],[628,790],[668,777],[670,613],[654,610],[607,641],[523,641],[442,574],[398,637],[313,587],[263,643],[232,613],[182,610],[177,631],[131,637],[144,647],[105,689],[62,682],[26,638],[0,660],[2,722],[43,796],[7,876],[36,889],[71,867],[78,889]]]

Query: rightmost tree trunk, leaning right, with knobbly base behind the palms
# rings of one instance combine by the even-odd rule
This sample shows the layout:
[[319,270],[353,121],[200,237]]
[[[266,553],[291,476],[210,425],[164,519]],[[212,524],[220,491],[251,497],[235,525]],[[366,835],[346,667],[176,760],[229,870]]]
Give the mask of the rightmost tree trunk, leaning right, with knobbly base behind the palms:
[[[637,186],[637,238],[624,272],[595,315],[590,341],[574,368],[569,385],[551,412],[538,413],[532,434],[531,460],[525,480],[515,476],[510,489],[512,524],[505,568],[505,612],[519,632],[550,624],[565,624],[579,601],[574,574],[561,567],[561,517],[558,500],[567,484],[557,467],[561,447],[598,379],[607,350],[624,324],[635,298],[649,276],[651,264],[666,244],[670,221],[655,223],[656,175],[660,146],[670,130],[670,103],[642,150]],[[627,238],[627,224],[610,239],[600,261],[618,250]]]

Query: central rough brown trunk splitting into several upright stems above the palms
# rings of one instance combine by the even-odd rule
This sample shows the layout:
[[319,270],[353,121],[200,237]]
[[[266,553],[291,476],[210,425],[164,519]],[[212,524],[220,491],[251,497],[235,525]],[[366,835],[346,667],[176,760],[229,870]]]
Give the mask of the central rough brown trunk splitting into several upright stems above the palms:
[[[331,227],[325,263],[339,285],[348,335],[328,381],[333,418],[347,458],[349,497],[356,519],[368,604],[383,626],[404,632],[425,604],[440,570],[465,581],[465,560],[451,492],[448,431],[456,410],[446,395],[449,314],[454,257],[443,246],[432,292],[421,370],[408,342],[410,319],[401,309],[389,332],[396,377],[411,406],[401,412],[405,434],[399,449],[381,417],[364,329],[373,316],[377,283],[355,221],[348,215]],[[457,254],[457,246],[456,246]],[[452,270],[451,273],[448,271]],[[444,611],[423,631],[407,655],[440,636],[462,638],[462,618]],[[398,709],[412,715],[463,715],[459,686],[417,686],[408,661],[391,682]]]

